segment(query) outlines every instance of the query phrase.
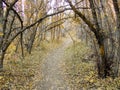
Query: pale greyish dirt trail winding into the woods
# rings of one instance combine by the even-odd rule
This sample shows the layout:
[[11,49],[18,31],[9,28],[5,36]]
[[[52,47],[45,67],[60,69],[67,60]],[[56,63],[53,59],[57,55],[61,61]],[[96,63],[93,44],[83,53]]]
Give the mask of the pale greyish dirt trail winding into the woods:
[[72,40],[67,39],[60,47],[47,55],[42,66],[43,79],[38,83],[37,90],[71,90],[62,71],[64,51],[71,42]]

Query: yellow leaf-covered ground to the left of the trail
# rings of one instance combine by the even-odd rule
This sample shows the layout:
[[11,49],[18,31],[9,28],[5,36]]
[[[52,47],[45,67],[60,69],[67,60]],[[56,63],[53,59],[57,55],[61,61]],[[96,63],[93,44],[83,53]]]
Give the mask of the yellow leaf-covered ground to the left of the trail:
[[25,53],[24,59],[20,53],[7,55],[4,70],[0,72],[0,90],[34,90],[36,82],[42,78],[40,67],[43,58],[57,46],[56,42],[43,41],[34,48],[32,54]]

